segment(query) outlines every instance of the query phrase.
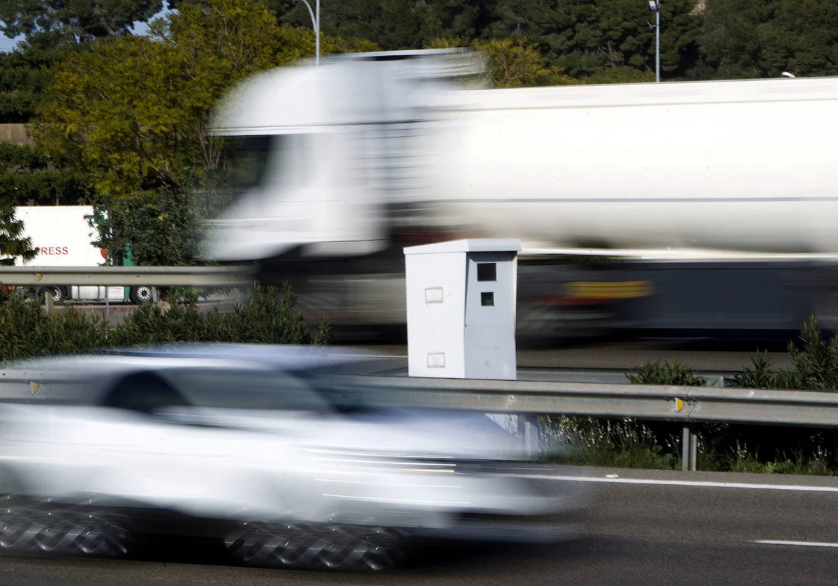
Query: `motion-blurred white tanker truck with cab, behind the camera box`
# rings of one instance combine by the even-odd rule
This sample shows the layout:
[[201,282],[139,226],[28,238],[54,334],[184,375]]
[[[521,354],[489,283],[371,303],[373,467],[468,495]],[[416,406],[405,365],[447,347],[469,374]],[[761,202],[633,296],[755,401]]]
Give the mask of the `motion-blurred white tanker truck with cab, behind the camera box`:
[[247,80],[215,120],[239,189],[207,256],[259,261],[336,324],[403,324],[401,247],[462,237],[521,239],[525,259],[623,257],[524,263],[522,327],[831,318],[838,79],[452,83],[476,64],[358,54]]

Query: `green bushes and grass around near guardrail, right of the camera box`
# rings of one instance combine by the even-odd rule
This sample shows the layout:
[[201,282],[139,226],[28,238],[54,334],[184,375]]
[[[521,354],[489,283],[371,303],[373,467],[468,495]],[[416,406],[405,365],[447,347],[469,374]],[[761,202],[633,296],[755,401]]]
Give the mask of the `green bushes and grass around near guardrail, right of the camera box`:
[[[726,384],[736,388],[838,391],[838,337],[827,340],[814,316],[805,321],[799,343],[789,343],[790,368],[773,369],[767,352]],[[706,379],[679,362],[647,362],[626,374],[633,384],[704,386]],[[680,469],[680,427],[670,422],[552,417],[542,440],[573,441],[563,461],[606,467]],[[765,425],[701,424],[699,470],[773,474],[835,475],[838,431]]]

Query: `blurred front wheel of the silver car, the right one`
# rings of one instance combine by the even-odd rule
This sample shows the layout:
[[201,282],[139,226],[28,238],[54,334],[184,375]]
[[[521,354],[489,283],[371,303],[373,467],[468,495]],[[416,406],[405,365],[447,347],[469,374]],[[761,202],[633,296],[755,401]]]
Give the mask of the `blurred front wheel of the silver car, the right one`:
[[385,527],[243,523],[225,545],[236,563],[269,568],[381,572],[405,558],[401,534]]

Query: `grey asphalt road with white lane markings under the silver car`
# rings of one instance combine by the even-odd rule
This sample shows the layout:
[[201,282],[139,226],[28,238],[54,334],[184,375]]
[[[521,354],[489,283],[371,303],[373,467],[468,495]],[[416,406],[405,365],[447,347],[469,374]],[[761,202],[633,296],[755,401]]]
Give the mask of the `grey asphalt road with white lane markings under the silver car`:
[[[596,492],[571,541],[443,550],[389,574],[236,568],[217,553],[168,551],[143,560],[3,555],[14,584],[835,584],[838,479],[592,470]],[[614,476],[617,477],[608,477]]]

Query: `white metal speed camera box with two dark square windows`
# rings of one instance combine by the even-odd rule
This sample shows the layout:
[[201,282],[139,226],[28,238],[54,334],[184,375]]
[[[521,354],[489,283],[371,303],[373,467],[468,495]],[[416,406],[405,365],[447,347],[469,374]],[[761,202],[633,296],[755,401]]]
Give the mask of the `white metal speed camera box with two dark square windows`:
[[515,380],[517,239],[404,249],[408,374]]

